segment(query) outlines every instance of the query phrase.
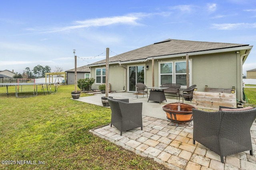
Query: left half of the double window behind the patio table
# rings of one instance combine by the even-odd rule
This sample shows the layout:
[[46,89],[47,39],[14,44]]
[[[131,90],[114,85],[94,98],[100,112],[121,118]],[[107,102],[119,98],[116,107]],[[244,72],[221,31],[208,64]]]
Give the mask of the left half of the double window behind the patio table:
[[172,83],[172,63],[160,63],[160,84]]

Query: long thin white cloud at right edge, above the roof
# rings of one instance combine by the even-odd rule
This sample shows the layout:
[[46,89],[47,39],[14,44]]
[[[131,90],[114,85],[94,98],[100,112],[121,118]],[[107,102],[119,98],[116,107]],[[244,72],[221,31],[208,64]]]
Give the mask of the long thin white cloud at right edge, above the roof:
[[212,28],[215,29],[242,29],[242,28],[256,28],[256,23],[214,23]]

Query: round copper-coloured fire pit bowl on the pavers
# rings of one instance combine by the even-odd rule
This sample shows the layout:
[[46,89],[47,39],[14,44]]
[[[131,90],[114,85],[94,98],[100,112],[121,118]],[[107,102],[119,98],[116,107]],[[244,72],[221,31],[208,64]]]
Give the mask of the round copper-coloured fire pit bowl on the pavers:
[[[194,106],[184,103],[170,103],[163,106],[163,110],[166,113],[166,118],[173,123],[187,123],[193,120],[192,109],[197,109]],[[190,125],[190,124],[189,124]]]

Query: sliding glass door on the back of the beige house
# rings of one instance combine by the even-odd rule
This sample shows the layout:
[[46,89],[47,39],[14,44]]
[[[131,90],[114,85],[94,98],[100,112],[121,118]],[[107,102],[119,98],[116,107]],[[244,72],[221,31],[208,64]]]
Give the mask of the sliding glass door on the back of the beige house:
[[129,92],[136,92],[135,84],[136,83],[144,83],[145,82],[145,66],[144,65],[138,65],[138,66],[129,66]]

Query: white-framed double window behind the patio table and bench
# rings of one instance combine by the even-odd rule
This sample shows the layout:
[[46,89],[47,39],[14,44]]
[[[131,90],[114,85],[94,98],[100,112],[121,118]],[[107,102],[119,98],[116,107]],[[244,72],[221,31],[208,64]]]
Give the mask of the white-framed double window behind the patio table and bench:
[[[177,61],[170,63],[160,63],[160,77],[159,83],[178,83],[181,86],[186,86],[186,61]],[[188,64],[189,76],[190,76],[190,61]],[[191,79],[190,79],[191,80]],[[191,81],[190,81],[191,82]]]

